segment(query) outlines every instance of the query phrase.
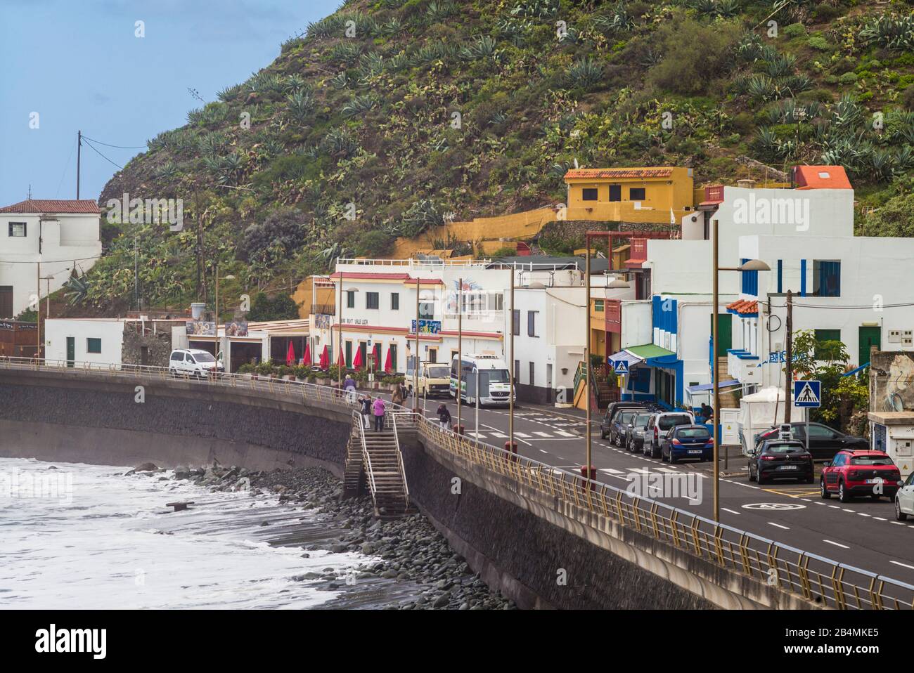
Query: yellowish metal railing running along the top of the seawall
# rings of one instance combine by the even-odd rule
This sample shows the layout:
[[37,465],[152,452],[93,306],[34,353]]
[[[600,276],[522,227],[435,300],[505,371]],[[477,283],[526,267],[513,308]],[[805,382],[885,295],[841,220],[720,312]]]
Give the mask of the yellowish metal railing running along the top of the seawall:
[[[0,358],[0,369],[55,370],[73,376],[104,373],[114,379],[133,381],[170,377],[165,367],[100,363],[72,363],[68,366],[64,361],[45,362],[27,358]],[[345,410],[356,405],[355,394],[300,381],[231,373],[198,379],[181,375],[180,378],[202,385],[288,394],[303,402],[335,405]],[[914,609],[914,585],[740,531],[664,502],[639,498],[609,484],[518,456],[473,437],[457,435],[423,415],[413,415],[405,407],[388,405],[388,415],[397,417],[401,430],[415,428],[420,436],[433,439],[456,457],[772,587],[838,609]]]

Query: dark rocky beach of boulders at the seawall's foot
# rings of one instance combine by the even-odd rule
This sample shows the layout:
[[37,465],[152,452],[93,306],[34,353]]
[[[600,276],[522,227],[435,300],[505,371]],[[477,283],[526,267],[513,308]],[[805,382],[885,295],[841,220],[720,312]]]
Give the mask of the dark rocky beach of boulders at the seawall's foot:
[[[305,558],[317,550],[364,556],[364,563],[343,576],[326,568],[294,578],[339,593],[324,608],[515,609],[511,601],[489,590],[423,515],[380,518],[370,497],[340,499],[342,483],[323,468],[250,472],[217,465],[165,471],[146,463],[127,475],[156,472],[160,479],[184,479],[212,491],[241,490],[250,491],[252,498],[278,498],[288,508],[288,518],[283,517],[275,535],[269,530],[273,522],[261,521],[265,539],[273,545],[298,546]],[[296,512],[307,517],[290,525]]]

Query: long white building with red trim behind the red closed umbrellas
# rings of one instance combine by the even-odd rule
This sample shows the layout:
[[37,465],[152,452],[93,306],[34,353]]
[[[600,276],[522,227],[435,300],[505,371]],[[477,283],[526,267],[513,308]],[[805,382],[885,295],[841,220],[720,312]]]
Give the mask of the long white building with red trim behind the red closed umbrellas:
[[[518,399],[570,403],[586,333],[582,264],[579,258],[515,258],[495,263],[437,258],[340,259],[327,281],[335,284],[335,312],[340,306],[342,283],[345,363],[353,366],[360,350],[357,362],[365,365],[367,355],[376,352],[377,369],[383,370],[389,353],[392,371],[406,372],[416,350],[417,284],[421,362],[450,363],[458,352],[459,327],[463,354],[492,352],[508,362],[513,275]],[[602,267],[606,267],[605,260]],[[592,297],[633,297],[633,290],[607,289],[606,279],[605,275],[592,277]],[[462,325],[457,310],[461,295]],[[314,362],[326,347],[331,363],[336,363],[340,347],[335,313],[311,318]],[[567,399],[558,399],[558,394]]]

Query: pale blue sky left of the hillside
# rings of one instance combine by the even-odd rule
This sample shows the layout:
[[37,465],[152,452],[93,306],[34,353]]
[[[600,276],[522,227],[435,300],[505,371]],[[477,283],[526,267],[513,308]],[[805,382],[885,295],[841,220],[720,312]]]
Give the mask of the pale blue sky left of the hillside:
[[[145,146],[340,0],[0,0],[0,205],[76,197],[76,133]],[[135,37],[143,21],[145,37]],[[37,112],[37,129],[29,128]],[[96,143],[119,165],[143,150]],[[117,171],[85,144],[80,198]]]

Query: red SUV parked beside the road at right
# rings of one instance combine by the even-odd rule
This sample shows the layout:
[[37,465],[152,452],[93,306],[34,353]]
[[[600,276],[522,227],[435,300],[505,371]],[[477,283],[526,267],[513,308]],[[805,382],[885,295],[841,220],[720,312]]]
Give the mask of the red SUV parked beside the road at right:
[[855,496],[895,499],[901,473],[892,459],[882,451],[838,451],[822,468],[822,497],[836,493],[842,502]]

